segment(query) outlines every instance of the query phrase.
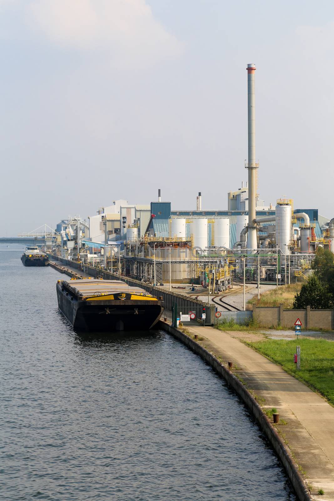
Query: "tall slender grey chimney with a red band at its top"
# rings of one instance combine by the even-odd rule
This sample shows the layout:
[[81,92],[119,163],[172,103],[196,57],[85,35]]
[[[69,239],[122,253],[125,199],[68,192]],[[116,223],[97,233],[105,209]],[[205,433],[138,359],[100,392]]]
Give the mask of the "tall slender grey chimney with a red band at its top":
[[248,88],[248,236],[247,248],[256,249],[255,65],[247,65]]

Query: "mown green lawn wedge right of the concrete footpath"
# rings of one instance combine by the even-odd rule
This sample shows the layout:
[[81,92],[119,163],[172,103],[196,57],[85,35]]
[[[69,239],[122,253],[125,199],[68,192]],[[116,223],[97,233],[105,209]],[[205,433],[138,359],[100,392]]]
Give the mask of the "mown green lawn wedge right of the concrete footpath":
[[[334,406],[334,343],[324,339],[285,341],[267,339],[246,343],[256,351],[321,393]],[[293,362],[296,345],[300,346],[300,370]]]

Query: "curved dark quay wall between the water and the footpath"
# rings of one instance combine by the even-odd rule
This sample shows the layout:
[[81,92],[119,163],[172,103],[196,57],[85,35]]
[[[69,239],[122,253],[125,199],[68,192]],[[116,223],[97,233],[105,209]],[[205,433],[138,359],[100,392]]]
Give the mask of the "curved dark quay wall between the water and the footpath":
[[279,437],[277,431],[272,426],[267,416],[263,413],[259,404],[251,396],[246,387],[238,380],[237,377],[234,376],[231,371],[229,371],[223,364],[221,364],[219,360],[214,355],[212,355],[212,353],[203,348],[203,346],[201,346],[200,344],[196,343],[196,341],[191,339],[189,336],[186,336],[178,329],[175,329],[174,327],[171,327],[164,322],[159,322],[158,327],[169,332],[173,337],[185,344],[194,353],[202,357],[205,362],[207,362],[220,376],[225,379],[227,384],[241,398],[252,416],[255,418],[260,429],[264,432],[265,436],[269,440],[283,465],[283,468],[294,488],[299,501],[312,501],[312,497],[310,496],[305,482],[302,479],[296,465],[294,464],[287,447]]

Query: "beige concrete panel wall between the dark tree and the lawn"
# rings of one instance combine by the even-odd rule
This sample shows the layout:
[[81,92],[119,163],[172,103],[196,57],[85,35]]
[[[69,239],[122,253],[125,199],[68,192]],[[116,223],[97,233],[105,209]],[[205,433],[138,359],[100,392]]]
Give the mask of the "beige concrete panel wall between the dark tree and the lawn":
[[253,305],[253,318],[263,327],[291,328],[299,318],[304,329],[334,330],[334,310],[284,310],[283,305],[273,307],[257,307]]

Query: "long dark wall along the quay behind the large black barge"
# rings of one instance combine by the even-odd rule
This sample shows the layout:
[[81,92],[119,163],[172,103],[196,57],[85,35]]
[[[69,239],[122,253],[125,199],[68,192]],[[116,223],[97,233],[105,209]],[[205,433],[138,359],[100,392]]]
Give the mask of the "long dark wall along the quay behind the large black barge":
[[[59,261],[66,266],[75,268],[77,270],[80,270],[81,272],[85,272],[87,276],[92,276],[94,278],[101,276],[105,280],[122,280],[132,287],[140,287],[141,289],[144,289],[144,291],[149,292],[156,298],[162,296],[166,310],[172,310],[173,303],[176,303],[178,311],[192,311],[193,309],[195,309],[196,311],[196,308],[205,306],[205,325],[213,325],[216,322],[214,305],[208,305],[208,303],[203,303],[202,301],[196,299],[188,299],[181,294],[175,294],[173,292],[166,291],[166,289],[145,284],[143,282],[140,282],[139,280],[131,279],[129,277],[123,277],[117,275],[116,273],[110,273],[98,268],[94,268],[93,266],[82,265],[81,263],[78,263],[76,261],[70,261],[68,259],[60,258],[52,254],[49,255],[49,257],[50,259]],[[201,323],[199,323],[198,325],[201,325]]]

